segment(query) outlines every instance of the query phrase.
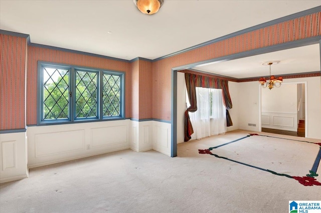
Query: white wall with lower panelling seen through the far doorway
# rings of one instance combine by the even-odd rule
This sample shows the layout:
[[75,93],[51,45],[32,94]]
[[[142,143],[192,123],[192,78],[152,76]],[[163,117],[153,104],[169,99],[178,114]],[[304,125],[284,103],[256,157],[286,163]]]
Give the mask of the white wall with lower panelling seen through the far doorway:
[[262,127],[297,131],[297,84],[262,88],[261,110]]

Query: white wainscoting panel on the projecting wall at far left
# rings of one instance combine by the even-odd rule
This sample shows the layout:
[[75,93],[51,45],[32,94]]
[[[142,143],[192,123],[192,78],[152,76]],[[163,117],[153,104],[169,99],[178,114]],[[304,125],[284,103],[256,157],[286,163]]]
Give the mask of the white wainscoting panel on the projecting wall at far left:
[[28,177],[26,132],[0,134],[0,182]]

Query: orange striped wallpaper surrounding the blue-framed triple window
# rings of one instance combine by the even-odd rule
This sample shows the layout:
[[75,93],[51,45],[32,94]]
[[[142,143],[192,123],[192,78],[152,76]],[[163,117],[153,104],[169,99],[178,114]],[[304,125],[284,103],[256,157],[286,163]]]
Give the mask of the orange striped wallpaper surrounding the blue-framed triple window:
[[27,125],[37,124],[37,62],[49,61],[125,72],[125,116],[131,117],[131,65],[103,57],[28,46]]

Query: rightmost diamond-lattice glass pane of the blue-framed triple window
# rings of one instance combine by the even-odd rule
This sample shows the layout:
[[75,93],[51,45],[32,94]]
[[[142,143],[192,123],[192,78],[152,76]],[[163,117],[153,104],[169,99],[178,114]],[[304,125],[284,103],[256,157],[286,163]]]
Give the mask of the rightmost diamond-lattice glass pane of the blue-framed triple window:
[[120,116],[121,75],[103,74],[103,116]]

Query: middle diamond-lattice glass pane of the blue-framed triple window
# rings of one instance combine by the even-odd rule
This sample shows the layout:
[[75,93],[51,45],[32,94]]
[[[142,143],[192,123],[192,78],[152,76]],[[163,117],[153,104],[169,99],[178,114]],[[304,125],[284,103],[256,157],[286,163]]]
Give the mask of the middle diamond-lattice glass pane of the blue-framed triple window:
[[76,118],[98,117],[98,72],[76,70]]

